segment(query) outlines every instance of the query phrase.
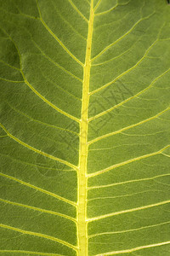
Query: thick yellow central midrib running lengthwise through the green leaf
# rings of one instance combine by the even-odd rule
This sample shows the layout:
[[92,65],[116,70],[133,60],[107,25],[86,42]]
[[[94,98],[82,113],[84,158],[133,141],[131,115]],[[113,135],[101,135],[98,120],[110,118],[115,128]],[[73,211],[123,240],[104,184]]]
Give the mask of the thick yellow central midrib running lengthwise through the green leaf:
[[88,102],[89,80],[91,68],[91,49],[94,26],[94,0],[91,0],[90,18],[88,23],[88,40],[84,75],[82,84],[82,115],[80,123],[80,156],[78,172],[78,207],[77,207],[77,238],[78,256],[88,256],[88,227],[87,227],[87,159],[88,159]]

